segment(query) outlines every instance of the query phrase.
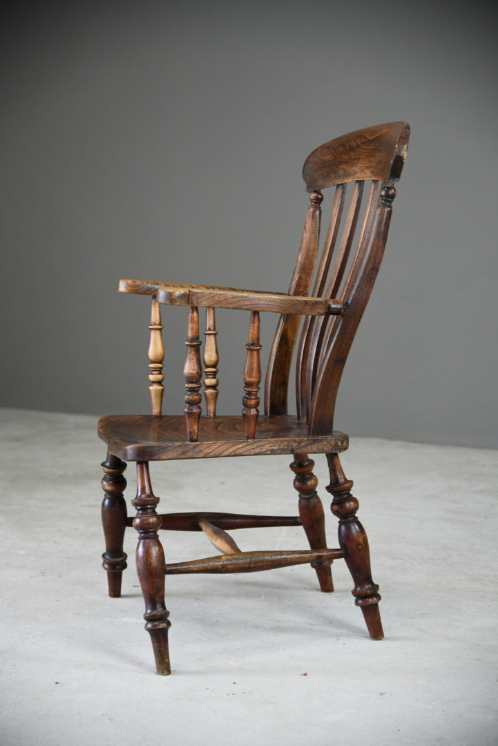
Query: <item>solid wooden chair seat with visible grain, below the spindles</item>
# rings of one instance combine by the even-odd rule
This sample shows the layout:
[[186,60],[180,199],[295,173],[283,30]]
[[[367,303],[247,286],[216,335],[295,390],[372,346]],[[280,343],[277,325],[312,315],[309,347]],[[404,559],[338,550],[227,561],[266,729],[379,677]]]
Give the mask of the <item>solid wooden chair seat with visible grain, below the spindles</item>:
[[183,416],[107,416],[98,421],[98,435],[110,453],[124,461],[327,454],[346,451],[345,433],[309,436],[306,424],[288,416],[260,417],[254,439],[244,436],[242,416],[201,417],[198,440],[186,439]]

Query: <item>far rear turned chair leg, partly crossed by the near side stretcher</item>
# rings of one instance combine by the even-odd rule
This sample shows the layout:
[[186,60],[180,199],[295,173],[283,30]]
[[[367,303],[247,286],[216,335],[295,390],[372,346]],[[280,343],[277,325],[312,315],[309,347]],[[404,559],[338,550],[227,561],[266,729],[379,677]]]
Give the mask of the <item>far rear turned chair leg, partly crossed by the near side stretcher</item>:
[[[299,515],[309,546],[312,549],[325,549],[327,539],[325,538],[324,507],[316,493],[318,479],[312,471],[315,462],[308,458],[308,454],[294,454],[294,461],[290,466],[296,475],[294,489],[299,493]],[[315,568],[318,576],[320,590],[324,593],[332,593],[334,586],[330,562],[312,562],[312,567]]]

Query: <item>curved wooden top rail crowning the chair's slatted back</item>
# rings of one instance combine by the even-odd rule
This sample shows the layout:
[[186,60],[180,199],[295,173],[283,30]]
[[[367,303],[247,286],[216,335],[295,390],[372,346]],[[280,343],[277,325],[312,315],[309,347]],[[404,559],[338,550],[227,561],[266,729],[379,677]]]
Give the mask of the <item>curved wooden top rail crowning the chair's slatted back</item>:
[[388,122],[325,142],[304,162],[306,192],[365,179],[394,184],[403,169],[409,137],[406,122]]

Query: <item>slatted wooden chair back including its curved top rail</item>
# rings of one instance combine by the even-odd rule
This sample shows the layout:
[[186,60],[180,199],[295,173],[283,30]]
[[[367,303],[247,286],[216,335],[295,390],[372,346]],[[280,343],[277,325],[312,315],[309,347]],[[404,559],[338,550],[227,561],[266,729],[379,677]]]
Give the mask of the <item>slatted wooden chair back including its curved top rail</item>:
[[[289,295],[336,298],[347,308],[342,316],[280,317],[268,360],[265,413],[287,413],[299,337],[297,417],[312,435],[332,431],[344,364],[382,261],[409,132],[406,122],[358,130],[316,148],[304,163],[310,205]],[[330,220],[321,241],[322,189],[332,186]]]

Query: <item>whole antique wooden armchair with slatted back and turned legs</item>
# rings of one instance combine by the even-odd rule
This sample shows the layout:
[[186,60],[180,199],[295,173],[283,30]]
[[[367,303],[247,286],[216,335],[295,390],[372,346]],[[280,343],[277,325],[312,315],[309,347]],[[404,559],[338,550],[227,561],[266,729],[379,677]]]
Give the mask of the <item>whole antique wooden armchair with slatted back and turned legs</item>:
[[[168,620],[165,606],[167,574],[188,572],[253,572],[309,562],[323,592],[333,591],[330,565],[344,558],[353,577],[353,596],[362,609],[368,633],[382,639],[379,586],[371,577],[368,539],[356,518],[358,501],[353,483],[342,471],[338,454],[348,445],[344,433],[333,430],[335,398],[351,342],[370,297],[391,220],[394,183],[400,178],[409,140],[409,125],[392,122],[338,137],[321,145],[306,159],[303,179],[310,192],[303,238],[289,293],[253,292],[226,287],[121,280],[119,292],[150,295],[152,299],[149,386],[151,416],[108,416],[98,423],[107,444],[102,463],[104,502],[102,522],[109,595],[121,593],[123,551],[127,526],[138,531],[136,566],[145,599],[145,629],[150,633],[157,673],[169,674]],[[334,186],[331,216],[321,252],[321,189]],[[362,205],[362,198],[365,197]],[[358,230],[357,230],[358,229]],[[355,237],[356,236],[356,237]],[[162,414],[164,348],[160,307],[189,307],[186,339],[185,410],[180,416]],[[201,416],[201,339],[199,307],[206,308],[204,395]],[[217,416],[218,349],[215,308],[250,312],[245,368],[245,395],[239,416]],[[279,313],[280,319],[265,379],[265,414],[259,416],[259,312]],[[296,351],[297,415],[289,415],[287,391]],[[242,382],[241,382],[242,383]],[[299,515],[237,515],[233,513],[169,513],[158,515],[148,462],[227,456],[292,454],[294,488]],[[325,454],[330,470],[331,510],[338,518],[339,548],[327,547],[324,510],[317,495],[315,466],[308,454]],[[127,461],[136,462],[137,492],[131,501],[136,516],[127,518],[123,497]],[[201,469],[201,466],[199,466]],[[302,525],[310,549],[293,551],[239,550],[230,529]],[[158,530],[204,531],[221,555],[188,562],[165,562]]]

